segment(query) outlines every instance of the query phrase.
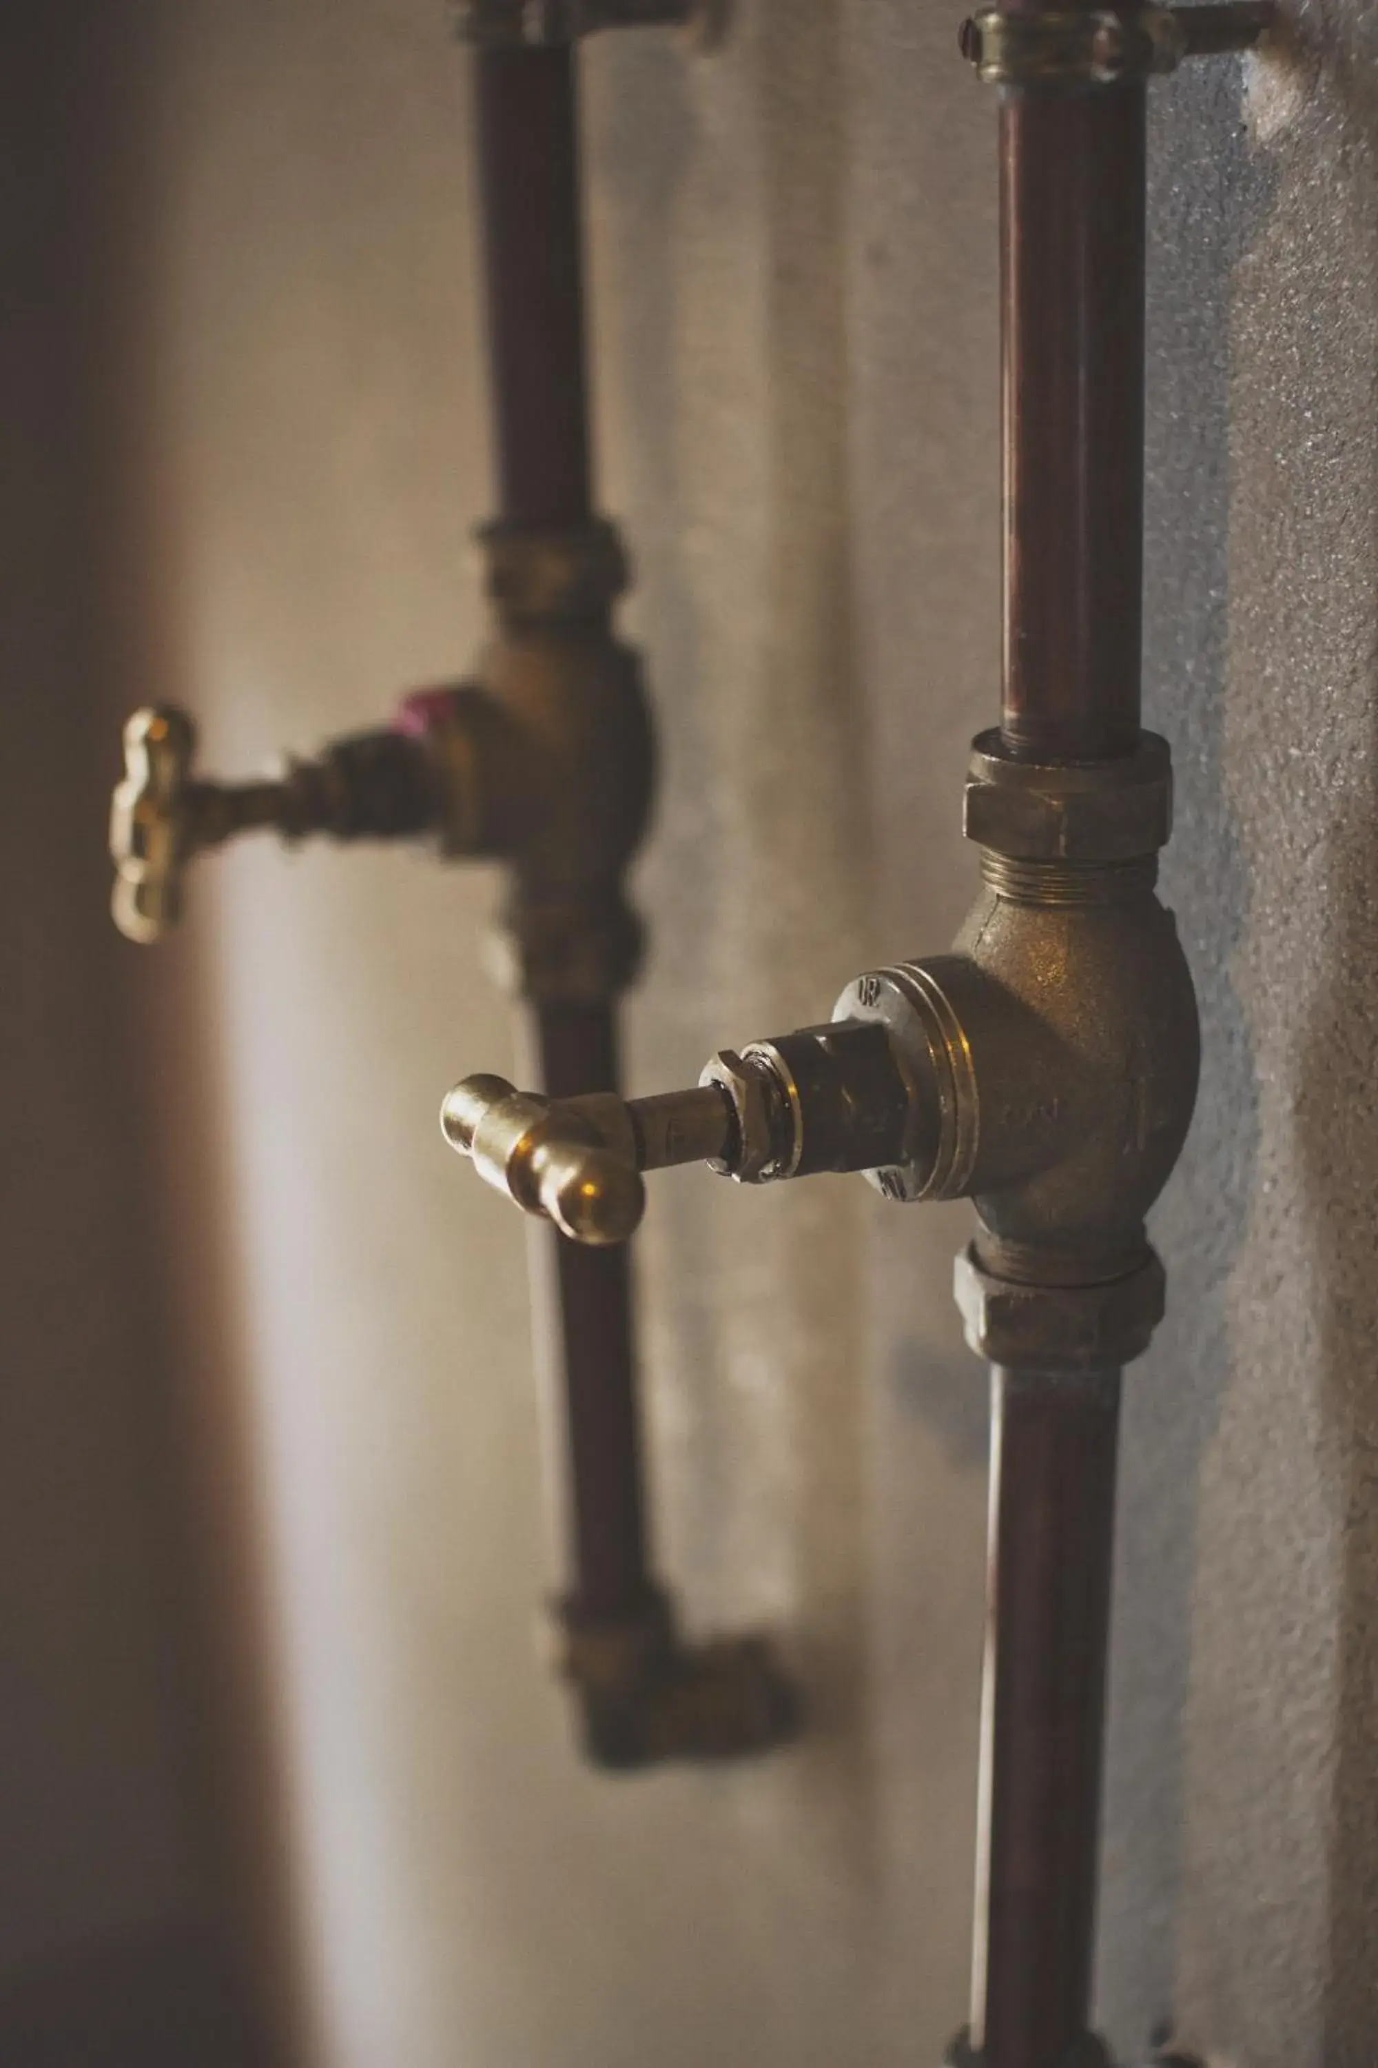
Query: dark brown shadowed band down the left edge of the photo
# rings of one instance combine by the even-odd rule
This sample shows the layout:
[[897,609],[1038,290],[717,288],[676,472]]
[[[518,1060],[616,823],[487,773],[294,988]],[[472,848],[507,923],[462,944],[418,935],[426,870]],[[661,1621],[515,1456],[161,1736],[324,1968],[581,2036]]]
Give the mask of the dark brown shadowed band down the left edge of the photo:
[[[165,579],[140,414],[153,43],[95,0],[0,8],[6,2068],[155,2064],[174,2031],[205,2041],[182,2062],[262,2060],[229,1998],[273,1994],[281,1927],[246,1859],[252,1758],[223,1758],[244,1723],[223,1373],[178,1342],[155,1168],[176,1100],[109,924],[118,718],[157,682]],[[205,1204],[194,1137],[176,1175]]]

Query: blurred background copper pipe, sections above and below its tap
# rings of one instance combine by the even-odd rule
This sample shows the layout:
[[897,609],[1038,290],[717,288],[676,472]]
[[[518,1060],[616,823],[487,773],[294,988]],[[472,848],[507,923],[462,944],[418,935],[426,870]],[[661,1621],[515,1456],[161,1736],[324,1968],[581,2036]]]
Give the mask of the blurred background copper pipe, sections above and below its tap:
[[[506,523],[591,515],[578,77],[572,50],[475,56],[498,503]],[[537,1007],[535,1061],[554,1098],[618,1090],[612,1003]],[[624,1249],[552,1235],[568,1458],[568,1588],[587,1617],[655,1596],[643,1506],[632,1299]]]

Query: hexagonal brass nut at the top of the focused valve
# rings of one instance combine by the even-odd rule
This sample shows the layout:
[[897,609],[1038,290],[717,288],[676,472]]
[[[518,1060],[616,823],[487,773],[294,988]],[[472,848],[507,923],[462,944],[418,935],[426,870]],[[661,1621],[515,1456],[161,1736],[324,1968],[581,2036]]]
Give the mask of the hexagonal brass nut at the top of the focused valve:
[[967,840],[1014,862],[1130,862],[1171,833],[1171,755],[1155,732],[1116,761],[1012,761],[998,732],[971,742]]

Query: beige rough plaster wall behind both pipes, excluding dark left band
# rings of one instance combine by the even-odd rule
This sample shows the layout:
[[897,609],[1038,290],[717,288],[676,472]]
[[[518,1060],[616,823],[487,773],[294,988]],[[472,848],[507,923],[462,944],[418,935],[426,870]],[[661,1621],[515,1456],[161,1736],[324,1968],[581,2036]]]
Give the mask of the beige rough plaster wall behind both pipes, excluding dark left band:
[[[1207,1022],[1130,1381],[1103,2014],[1372,2062],[1372,165],[1361,19],[1155,93],[1149,709]],[[1368,31],[1366,31],[1368,33]],[[605,507],[665,747],[640,1088],[944,945],[998,664],[994,116],[936,0],[742,0],[587,62]],[[165,494],[209,765],[452,674],[488,455],[463,60],[403,0],[167,14]],[[205,869],[316,2056],[870,2068],[963,2016],[985,1404],[961,1210],[655,1185],[657,1524],[698,1625],[781,1632],[797,1752],[583,1774],[523,1233],[436,1144],[510,1065],[494,883]],[[1297,1210],[1297,1208],[1304,1210]]]

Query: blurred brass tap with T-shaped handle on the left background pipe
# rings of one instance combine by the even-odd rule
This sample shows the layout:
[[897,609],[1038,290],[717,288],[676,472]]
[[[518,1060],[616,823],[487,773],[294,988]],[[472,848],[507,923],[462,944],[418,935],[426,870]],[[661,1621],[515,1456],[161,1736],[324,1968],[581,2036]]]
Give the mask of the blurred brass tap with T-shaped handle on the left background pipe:
[[618,534],[488,525],[479,544],[496,625],[473,680],[413,693],[378,730],[225,784],[194,771],[186,711],[130,718],[109,821],[124,935],[161,939],[182,912],[186,864],[240,833],[432,838],[446,858],[508,862],[496,962],[519,995],[601,1003],[632,978],[640,929],[622,875],[653,755],[636,656],[612,633],[626,585]]

